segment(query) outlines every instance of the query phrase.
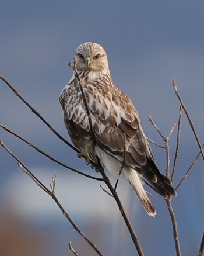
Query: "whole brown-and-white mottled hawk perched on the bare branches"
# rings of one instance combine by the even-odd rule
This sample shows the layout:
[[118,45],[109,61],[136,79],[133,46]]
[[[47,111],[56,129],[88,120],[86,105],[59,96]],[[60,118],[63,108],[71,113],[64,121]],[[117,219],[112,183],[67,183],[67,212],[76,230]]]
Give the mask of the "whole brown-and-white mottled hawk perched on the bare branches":
[[116,179],[124,175],[146,212],[154,217],[156,210],[143,188],[143,181],[164,199],[171,200],[176,192],[170,179],[157,168],[137,110],[112,81],[107,54],[100,44],[80,44],[75,53],[75,65],[79,77],[76,78],[73,71],[59,95],[65,126],[73,144],[93,162],[100,160],[101,166]]

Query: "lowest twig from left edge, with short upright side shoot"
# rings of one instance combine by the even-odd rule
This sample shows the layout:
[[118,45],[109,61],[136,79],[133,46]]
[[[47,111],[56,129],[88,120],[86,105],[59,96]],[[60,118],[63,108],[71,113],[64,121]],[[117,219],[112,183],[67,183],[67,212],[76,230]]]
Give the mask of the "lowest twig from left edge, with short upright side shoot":
[[92,243],[92,241],[79,229],[78,226],[76,226],[76,224],[73,222],[73,220],[71,219],[71,217],[69,216],[69,214],[65,211],[64,207],[61,205],[61,203],[59,202],[59,200],[57,199],[57,197],[55,196],[55,178],[52,178],[52,188],[51,191],[50,189],[47,188],[47,186],[45,186],[27,167],[26,165],[23,164],[23,162],[16,157],[15,154],[12,153],[12,151],[9,150],[8,147],[6,147],[6,145],[3,143],[3,141],[0,139],[0,146],[2,146],[3,148],[5,148],[5,150],[13,157],[15,158],[15,160],[19,163],[19,167],[26,172],[27,175],[29,175],[33,181],[40,186],[41,189],[43,189],[43,191],[45,191],[46,193],[48,193],[48,195],[50,195],[52,197],[52,199],[55,201],[55,203],[57,203],[59,209],[61,209],[62,213],[64,214],[64,216],[66,217],[66,219],[68,219],[69,223],[72,224],[72,227],[74,230],[76,230],[80,236],[82,236],[87,243],[93,248],[94,251],[97,252],[98,255],[103,256],[103,254],[101,254],[101,252],[99,251],[99,249],[96,247],[96,245],[94,245]]

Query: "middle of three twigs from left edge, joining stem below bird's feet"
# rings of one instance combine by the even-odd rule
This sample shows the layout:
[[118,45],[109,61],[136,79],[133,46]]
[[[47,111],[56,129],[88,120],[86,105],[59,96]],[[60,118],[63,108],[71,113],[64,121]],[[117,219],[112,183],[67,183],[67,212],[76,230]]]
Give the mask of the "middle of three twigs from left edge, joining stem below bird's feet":
[[93,177],[93,176],[91,176],[91,175],[89,175],[89,174],[85,174],[85,173],[83,173],[83,172],[78,171],[78,170],[75,169],[75,168],[70,167],[69,165],[64,164],[63,162],[58,161],[58,160],[55,159],[54,157],[51,157],[51,155],[48,155],[48,154],[45,153],[44,151],[40,150],[40,148],[37,148],[36,146],[34,146],[32,143],[30,143],[29,141],[27,141],[26,139],[24,139],[23,137],[21,137],[19,134],[16,134],[15,132],[13,132],[12,130],[10,130],[10,129],[9,129],[8,127],[6,127],[6,126],[3,126],[1,123],[0,123],[0,127],[2,127],[6,132],[9,132],[9,133],[12,134],[13,136],[15,136],[15,137],[17,137],[18,139],[24,141],[24,143],[28,144],[30,147],[33,147],[33,148],[34,148],[35,150],[37,150],[40,154],[45,155],[45,157],[49,158],[50,160],[56,162],[57,164],[59,164],[59,165],[61,165],[61,166],[63,166],[63,167],[65,167],[66,169],[69,169],[69,170],[71,170],[71,171],[73,171],[73,172],[76,172],[76,173],[78,173],[78,174],[80,174],[80,175],[83,175],[83,176],[85,176],[85,177],[87,177],[87,178],[90,178],[90,179],[95,179],[95,180],[97,180],[97,181],[103,181],[103,178],[97,178],[97,177]]

